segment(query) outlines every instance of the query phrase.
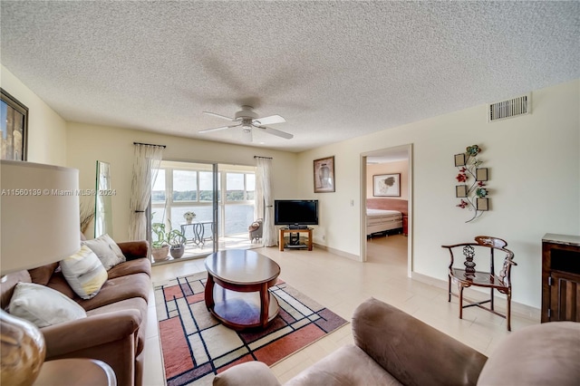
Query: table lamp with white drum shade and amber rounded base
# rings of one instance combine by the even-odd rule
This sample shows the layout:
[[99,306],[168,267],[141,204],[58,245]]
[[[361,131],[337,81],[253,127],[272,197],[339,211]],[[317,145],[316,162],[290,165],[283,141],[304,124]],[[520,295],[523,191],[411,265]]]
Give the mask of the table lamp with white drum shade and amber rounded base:
[[[79,250],[79,171],[0,160],[0,273],[36,268]],[[0,310],[1,384],[30,385],[44,361],[43,334]]]

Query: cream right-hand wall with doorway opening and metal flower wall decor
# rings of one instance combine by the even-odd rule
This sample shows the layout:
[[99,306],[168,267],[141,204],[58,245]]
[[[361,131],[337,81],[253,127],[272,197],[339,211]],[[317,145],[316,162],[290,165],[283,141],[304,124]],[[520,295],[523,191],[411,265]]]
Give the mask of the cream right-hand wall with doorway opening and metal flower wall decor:
[[[314,239],[359,255],[361,153],[412,143],[413,271],[446,280],[449,254],[442,244],[502,237],[518,264],[514,301],[539,308],[542,236],[580,233],[579,105],[576,80],[533,92],[530,115],[488,123],[487,106],[480,105],[301,153],[304,170],[314,159],[335,157],[335,193],[314,194],[312,175],[299,176],[301,196],[320,200],[326,240]],[[489,168],[492,210],[466,224],[469,213],[456,207],[453,155],[473,144]]]

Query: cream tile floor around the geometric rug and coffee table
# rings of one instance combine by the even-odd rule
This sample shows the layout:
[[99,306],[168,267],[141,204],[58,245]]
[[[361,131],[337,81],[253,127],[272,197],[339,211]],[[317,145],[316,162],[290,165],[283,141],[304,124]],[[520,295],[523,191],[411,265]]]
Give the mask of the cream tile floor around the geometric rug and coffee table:
[[[277,247],[270,247],[256,249],[256,252],[275,260],[282,269],[280,277],[289,285],[347,320],[350,320],[358,304],[373,296],[401,308],[479,352],[486,355],[493,352],[498,342],[508,333],[505,319],[474,307],[464,310],[463,320],[459,320],[457,298],[453,297],[451,303],[447,302],[446,283],[428,285],[406,276],[407,240],[407,237],[401,235],[369,240],[368,261],[364,264],[319,248],[310,252],[288,249],[280,252]],[[203,270],[203,259],[157,265],[153,267],[151,279],[155,283]],[[474,291],[466,290],[466,296],[469,295],[479,296]],[[153,299],[152,288],[150,299]],[[501,310],[504,304],[503,299],[498,300],[498,309]],[[539,323],[538,310],[519,304],[512,305],[513,331]],[[284,383],[330,352],[352,342],[351,326],[347,324],[275,364],[272,370],[278,380]],[[144,384],[164,384],[154,301],[150,302],[147,326]]]

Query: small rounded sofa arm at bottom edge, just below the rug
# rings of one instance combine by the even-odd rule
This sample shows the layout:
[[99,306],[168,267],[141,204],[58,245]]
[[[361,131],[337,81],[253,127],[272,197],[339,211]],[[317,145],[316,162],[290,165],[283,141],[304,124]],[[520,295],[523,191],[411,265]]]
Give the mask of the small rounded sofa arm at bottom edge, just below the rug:
[[274,373],[266,363],[244,362],[220,372],[213,386],[280,386]]

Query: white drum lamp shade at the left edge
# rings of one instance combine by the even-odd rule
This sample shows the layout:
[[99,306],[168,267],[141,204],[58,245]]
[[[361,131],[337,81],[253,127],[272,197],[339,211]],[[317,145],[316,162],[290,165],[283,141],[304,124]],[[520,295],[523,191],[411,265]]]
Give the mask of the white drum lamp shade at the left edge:
[[80,249],[79,170],[3,159],[0,192],[2,275]]

